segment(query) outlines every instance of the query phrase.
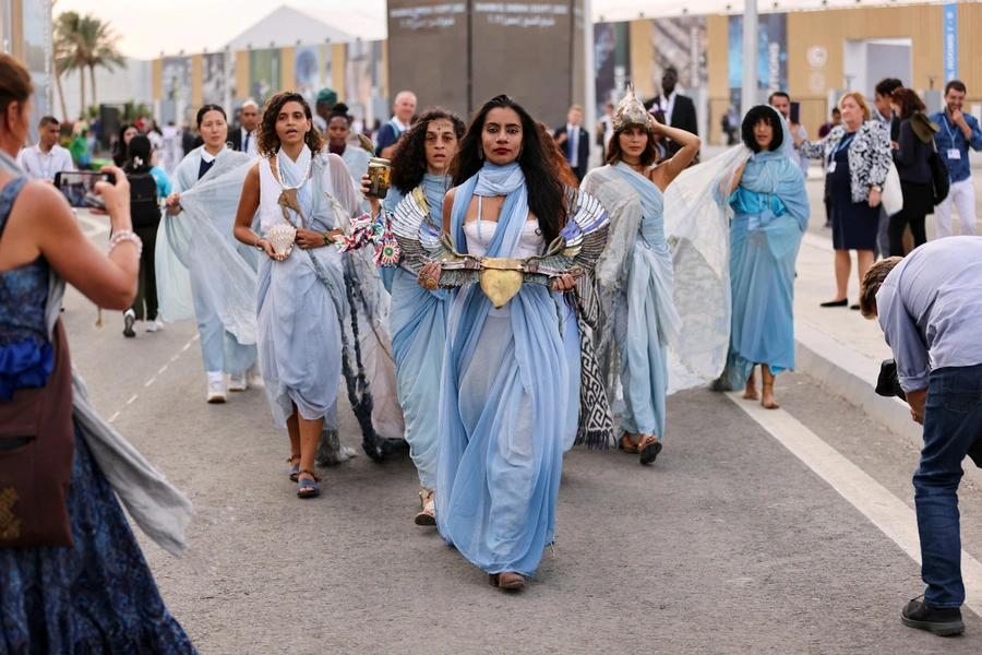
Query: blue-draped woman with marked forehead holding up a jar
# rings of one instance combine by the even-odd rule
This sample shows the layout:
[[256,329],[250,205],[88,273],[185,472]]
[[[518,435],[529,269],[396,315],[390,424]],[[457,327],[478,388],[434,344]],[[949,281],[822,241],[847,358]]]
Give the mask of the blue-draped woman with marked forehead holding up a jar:
[[[446,166],[457,152],[464,129],[464,121],[451,111],[424,111],[399,138],[399,147],[392,158],[392,187],[381,203],[369,199],[371,215],[385,222],[400,202],[420,202],[424,196],[430,219],[441,225],[443,196],[451,187]],[[392,356],[406,422],[405,438],[419,474],[421,510],[415,521],[417,525],[435,525],[436,426],[450,291],[422,288],[404,262],[386,265],[380,257],[376,263],[385,266],[382,277],[392,294]]]

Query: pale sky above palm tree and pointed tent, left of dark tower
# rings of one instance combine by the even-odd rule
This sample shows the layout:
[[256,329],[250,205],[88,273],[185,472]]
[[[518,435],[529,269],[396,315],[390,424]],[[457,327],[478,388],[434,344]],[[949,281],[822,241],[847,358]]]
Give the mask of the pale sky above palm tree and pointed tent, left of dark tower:
[[124,56],[154,59],[161,51],[220,49],[280,4],[307,11],[356,36],[361,36],[357,34],[361,29],[351,26],[385,22],[385,0],[57,0],[53,13],[92,12],[109,21],[121,36],[119,49]]

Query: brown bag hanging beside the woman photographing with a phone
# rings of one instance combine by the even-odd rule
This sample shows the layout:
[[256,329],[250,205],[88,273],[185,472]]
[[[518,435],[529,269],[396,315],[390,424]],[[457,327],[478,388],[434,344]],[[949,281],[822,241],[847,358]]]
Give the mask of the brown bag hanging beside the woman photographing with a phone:
[[65,504],[75,454],[72,364],[61,319],[41,389],[0,402],[0,547],[74,546]]

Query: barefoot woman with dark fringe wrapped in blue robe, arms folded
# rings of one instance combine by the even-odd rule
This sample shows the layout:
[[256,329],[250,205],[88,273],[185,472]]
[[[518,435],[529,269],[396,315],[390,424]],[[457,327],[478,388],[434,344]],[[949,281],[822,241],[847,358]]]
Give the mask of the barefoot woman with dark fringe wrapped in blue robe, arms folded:
[[[794,262],[810,206],[801,169],[785,154],[791,134],[781,115],[754,107],[742,131],[754,154],[738,169],[729,198],[733,314],[727,371],[732,389],[745,388],[744,398],[776,409],[775,376],[794,368]],[[763,397],[753,372],[757,364]]]

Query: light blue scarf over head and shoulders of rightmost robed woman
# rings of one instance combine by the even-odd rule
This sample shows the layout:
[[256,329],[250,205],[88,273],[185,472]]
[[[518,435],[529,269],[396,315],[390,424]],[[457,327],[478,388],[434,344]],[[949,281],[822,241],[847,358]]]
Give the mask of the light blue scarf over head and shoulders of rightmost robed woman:
[[[762,106],[774,111],[783,134],[781,143],[789,143],[791,131],[788,129],[788,121],[774,107]],[[788,213],[798,221],[802,231],[807,227],[811,206],[807,191],[802,183],[801,168],[788,158],[783,146],[776,151],[754,153],[746,163],[740,186],[757,193],[776,195]],[[762,223],[766,223],[766,221]]]

